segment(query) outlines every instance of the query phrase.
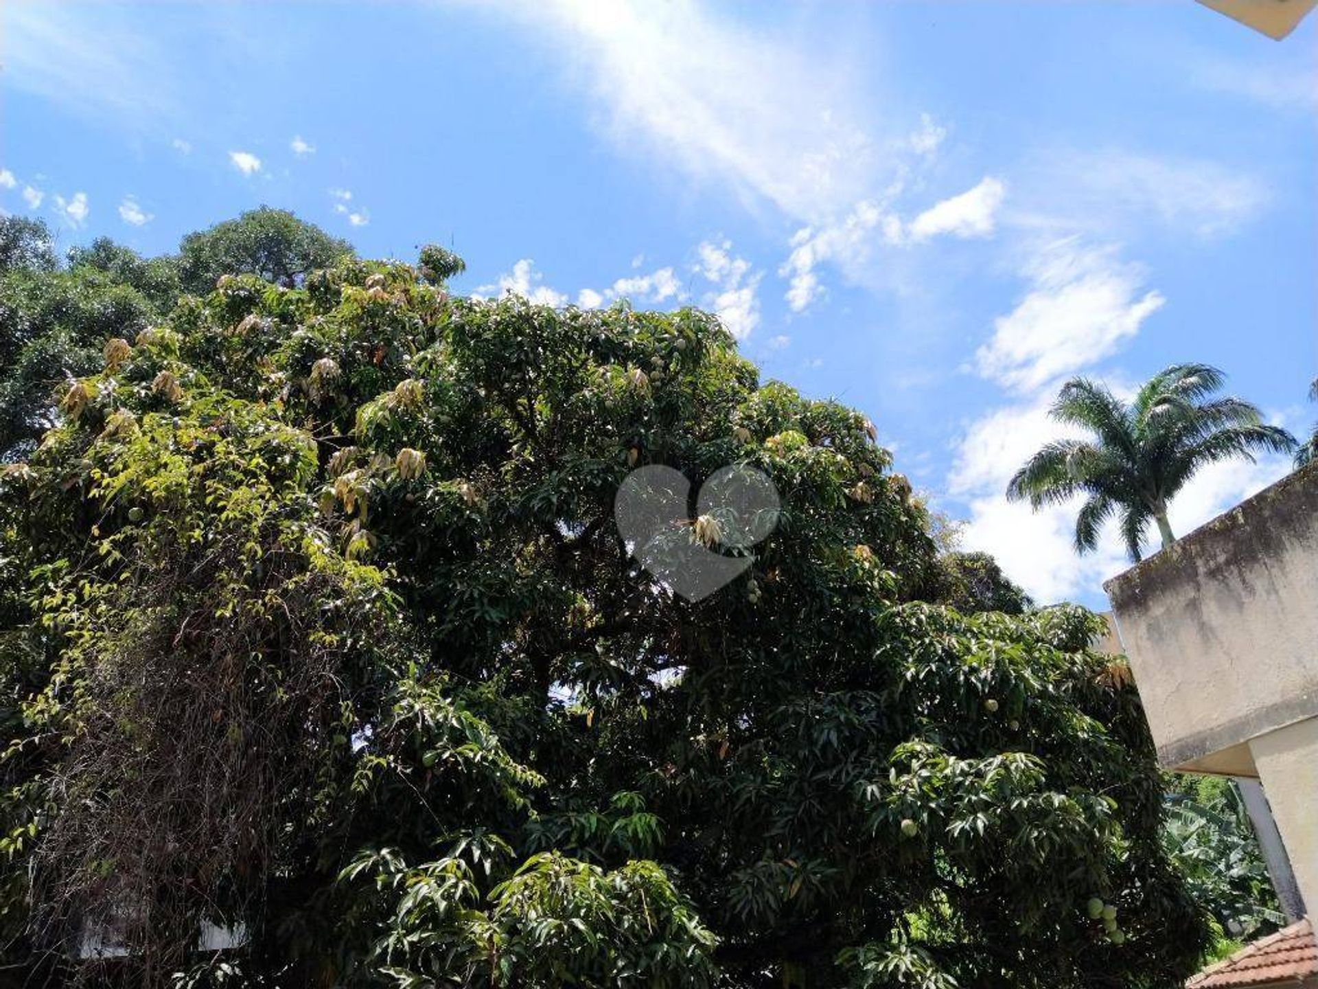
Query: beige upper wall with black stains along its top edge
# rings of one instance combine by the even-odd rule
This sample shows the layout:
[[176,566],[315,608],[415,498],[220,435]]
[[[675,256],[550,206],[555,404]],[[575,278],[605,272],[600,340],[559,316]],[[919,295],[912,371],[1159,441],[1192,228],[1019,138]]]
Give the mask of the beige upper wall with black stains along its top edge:
[[1165,766],[1242,774],[1232,746],[1318,716],[1318,464],[1106,589]]

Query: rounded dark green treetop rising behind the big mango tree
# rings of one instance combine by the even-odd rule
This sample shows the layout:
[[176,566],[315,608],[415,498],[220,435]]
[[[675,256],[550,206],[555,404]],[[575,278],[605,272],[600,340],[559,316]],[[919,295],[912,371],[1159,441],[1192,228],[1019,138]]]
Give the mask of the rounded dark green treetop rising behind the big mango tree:
[[183,289],[196,294],[215,289],[221,274],[256,274],[291,289],[314,269],[352,255],[348,241],[287,210],[262,206],[183,237],[178,269]]

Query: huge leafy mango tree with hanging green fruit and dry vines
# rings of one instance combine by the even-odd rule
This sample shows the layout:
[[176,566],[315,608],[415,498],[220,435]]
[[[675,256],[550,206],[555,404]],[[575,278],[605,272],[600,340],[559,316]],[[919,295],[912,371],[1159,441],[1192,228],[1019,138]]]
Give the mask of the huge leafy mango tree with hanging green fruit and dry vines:
[[[98,257],[50,277],[136,270]],[[275,281],[185,265],[204,291],[167,319],[88,330],[96,367],[0,480],[12,972],[1159,989],[1193,969],[1206,918],[1101,626],[1000,613],[978,564],[966,593],[996,611],[927,603],[928,514],[861,415],[760,382],[695,310],[457,298],[434,248],[248,262]],[[699,488],[730,463],[772,479],[780,521],[689,603],[629,558],[614,493],[635,465]],[[196,955],[202,922],[243,947]],[[130,957],[70,961],[90,935]]]

